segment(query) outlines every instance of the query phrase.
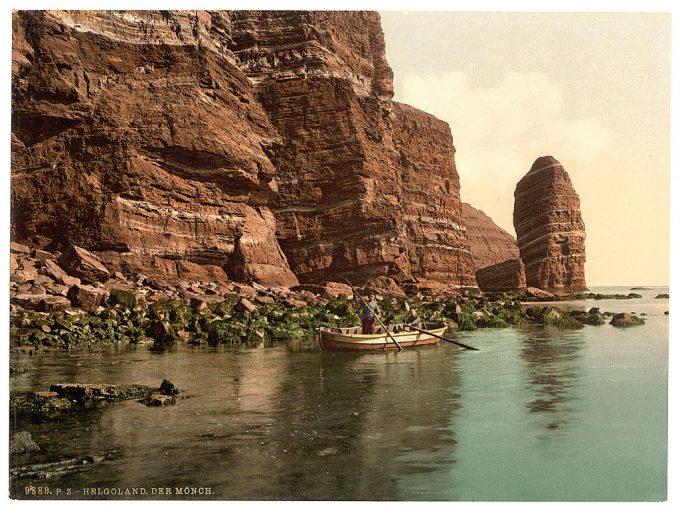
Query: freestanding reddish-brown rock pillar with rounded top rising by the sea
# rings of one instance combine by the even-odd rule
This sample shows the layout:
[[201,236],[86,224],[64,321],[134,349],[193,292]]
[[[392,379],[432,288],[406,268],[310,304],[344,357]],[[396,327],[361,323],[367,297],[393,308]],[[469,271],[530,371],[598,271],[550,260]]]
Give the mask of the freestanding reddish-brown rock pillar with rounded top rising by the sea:
[[517,184],[513,222],[527,286],[553,292],[586,289],[579,198],[552,156],[538,158]]

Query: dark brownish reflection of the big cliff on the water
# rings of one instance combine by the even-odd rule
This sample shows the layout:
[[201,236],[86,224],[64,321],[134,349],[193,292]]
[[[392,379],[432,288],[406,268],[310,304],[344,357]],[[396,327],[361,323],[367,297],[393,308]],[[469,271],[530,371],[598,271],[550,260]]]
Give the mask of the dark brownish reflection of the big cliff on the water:
[[142,361],[123,354],[105,364],[101,356],[46,357],[36,368],[46,375],[24,387],[62,377],[117,384],[170,377],[187,398],[166,408],[125,402],[17,429],[55,455],[120,450],[55,485],[189,484],[222,499],[436,498],[454,462],[460,355],[448,346],[353,354],[296,344],[184,349]]

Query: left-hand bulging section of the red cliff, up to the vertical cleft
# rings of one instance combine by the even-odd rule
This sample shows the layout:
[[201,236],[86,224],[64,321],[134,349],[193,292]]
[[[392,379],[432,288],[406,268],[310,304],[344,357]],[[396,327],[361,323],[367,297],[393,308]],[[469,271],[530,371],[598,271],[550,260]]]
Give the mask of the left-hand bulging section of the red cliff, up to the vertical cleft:
[[278,134],[222,14],[13,15],[12,229],[114,269],[296,284],[267,207]]

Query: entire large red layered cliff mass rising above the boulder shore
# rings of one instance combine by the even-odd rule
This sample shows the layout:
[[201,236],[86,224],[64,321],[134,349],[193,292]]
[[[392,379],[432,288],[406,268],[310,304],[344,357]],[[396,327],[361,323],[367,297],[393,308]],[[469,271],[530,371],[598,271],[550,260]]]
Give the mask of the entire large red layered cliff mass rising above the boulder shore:
[[13,36],[14,239],[168,279],[475,285],[450,131],[392,103],[376,13],[17,12]]

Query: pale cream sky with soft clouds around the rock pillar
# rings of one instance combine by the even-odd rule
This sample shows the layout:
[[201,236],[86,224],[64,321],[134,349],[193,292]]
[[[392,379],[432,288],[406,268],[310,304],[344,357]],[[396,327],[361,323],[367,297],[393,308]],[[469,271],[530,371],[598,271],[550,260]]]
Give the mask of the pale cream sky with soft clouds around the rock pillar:
[[451,126],[461,197],[515,236],[552,155],[581,199],[588,286],[666,285],[670,16],[382,12],[394,99]]

